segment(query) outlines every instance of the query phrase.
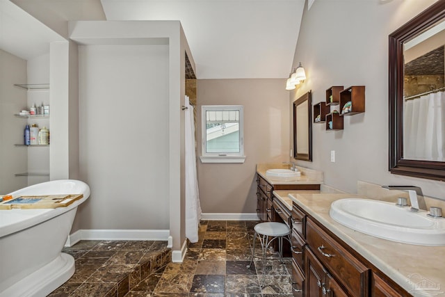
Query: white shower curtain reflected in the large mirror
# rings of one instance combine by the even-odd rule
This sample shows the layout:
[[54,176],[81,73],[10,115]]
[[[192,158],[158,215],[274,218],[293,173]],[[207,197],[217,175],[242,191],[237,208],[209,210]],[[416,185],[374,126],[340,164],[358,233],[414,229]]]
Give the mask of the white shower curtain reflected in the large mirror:
[[406,100],[403,109],[403,158],[445,161],[445,92]]

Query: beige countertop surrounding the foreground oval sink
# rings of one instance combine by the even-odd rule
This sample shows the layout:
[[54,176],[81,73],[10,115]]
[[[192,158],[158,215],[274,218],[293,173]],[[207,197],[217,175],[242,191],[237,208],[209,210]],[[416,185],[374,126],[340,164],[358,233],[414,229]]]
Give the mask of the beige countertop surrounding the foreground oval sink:
[[[298,193],[296,193],[298,192]],[[301,193],[274,191],[274,195],[291,209],[296,202],[318,222],[359,252],[380,271],[414,296],[445,296],[445,246],[415,246],[357,232],[337,223],[329,216],[330,204],[342,198],[366,198],[354,194]],[[289,193],[289,196],[286,194]],[[420,284],[419,289],[414,289]],[[426,289],[430,284],[437,290]],[[431,288],[431,287],[430,287]],[[428,294],[429,293],[429,294]]]

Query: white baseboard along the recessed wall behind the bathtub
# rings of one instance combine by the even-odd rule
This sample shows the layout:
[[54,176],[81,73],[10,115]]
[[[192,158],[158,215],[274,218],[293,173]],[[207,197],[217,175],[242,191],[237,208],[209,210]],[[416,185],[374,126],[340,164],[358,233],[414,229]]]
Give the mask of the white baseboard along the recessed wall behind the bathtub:
[[159,240],[168,241],[170,230],[77,230],[67,238],[70,247],[81,240]]

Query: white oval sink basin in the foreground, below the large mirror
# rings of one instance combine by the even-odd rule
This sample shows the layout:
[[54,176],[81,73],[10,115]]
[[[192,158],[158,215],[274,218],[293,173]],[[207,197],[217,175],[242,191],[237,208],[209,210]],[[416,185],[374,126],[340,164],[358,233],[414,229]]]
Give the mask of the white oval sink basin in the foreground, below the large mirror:
[[329,215],[353,230],[401,243],[445,246],[445,219],[391,202],[346,198],[332,202]]

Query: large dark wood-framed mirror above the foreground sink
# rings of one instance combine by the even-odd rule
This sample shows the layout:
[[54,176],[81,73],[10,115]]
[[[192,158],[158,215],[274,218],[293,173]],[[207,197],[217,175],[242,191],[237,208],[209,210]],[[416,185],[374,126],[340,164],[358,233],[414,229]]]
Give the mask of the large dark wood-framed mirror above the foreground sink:
[[389,171],[445,180],[445,0],[389,35]]

